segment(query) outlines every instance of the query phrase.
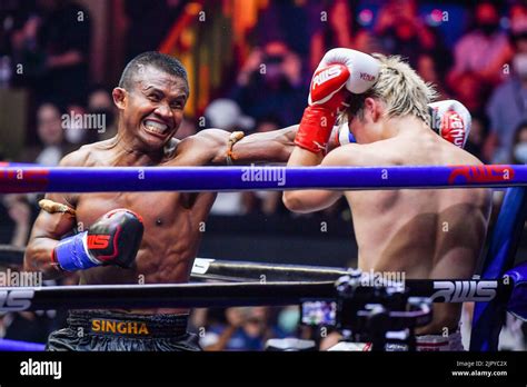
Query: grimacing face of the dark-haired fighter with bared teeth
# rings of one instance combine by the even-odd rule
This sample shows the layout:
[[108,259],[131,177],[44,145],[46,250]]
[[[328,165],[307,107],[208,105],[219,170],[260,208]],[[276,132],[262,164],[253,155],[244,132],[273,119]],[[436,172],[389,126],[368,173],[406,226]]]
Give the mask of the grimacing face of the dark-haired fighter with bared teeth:
[[127,92],[126,130],[149,150],[162,148],[178,131],[187,103],[187,82],[155,67],[145,67]]

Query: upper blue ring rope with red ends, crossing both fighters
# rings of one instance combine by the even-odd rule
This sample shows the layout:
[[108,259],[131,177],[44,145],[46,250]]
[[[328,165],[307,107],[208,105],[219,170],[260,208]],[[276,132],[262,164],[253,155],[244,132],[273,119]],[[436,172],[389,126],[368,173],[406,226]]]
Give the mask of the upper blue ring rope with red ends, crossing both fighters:
[[527,166],[0,168],[0,194],[527,186]]

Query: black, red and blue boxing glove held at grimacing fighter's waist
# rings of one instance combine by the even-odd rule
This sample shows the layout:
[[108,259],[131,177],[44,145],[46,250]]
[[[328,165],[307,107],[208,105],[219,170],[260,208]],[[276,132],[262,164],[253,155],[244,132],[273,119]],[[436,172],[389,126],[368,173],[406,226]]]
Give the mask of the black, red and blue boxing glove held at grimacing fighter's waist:
[[141,218],[128,209],[103,215],[87,231],[62,239],[54,248],[54,261],[67,271],[93,266],[130,267],[142,239]]

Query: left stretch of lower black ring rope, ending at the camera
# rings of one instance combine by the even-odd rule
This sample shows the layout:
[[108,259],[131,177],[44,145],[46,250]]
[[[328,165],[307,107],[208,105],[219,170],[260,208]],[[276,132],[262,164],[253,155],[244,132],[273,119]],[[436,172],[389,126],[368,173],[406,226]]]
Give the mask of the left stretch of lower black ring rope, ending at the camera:
[[2,287],[0,310],[295,305],[335,298],[334,281]]

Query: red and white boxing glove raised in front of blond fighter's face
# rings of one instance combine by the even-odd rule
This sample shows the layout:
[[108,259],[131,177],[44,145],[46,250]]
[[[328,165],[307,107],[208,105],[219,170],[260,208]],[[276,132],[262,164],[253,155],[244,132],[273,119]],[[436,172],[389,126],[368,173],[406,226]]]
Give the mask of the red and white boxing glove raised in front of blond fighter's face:
[[366,53],[349,49],[328,51],[312,77],[309,107],[304,111],[295,143],[314,153],[325,151],[349,93],[370,88],[378,70],[378,61]]

